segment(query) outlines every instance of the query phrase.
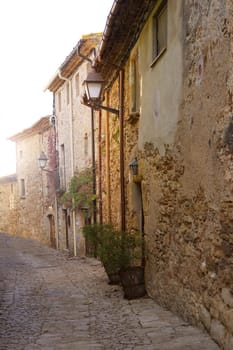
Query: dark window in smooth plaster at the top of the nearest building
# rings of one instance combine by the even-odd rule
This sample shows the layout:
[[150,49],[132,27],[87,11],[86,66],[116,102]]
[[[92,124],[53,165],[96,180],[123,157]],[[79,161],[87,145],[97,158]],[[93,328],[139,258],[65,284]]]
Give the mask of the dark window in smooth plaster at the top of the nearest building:
[[167,1],[163,1],[153,17],[153,60],[167,47]]

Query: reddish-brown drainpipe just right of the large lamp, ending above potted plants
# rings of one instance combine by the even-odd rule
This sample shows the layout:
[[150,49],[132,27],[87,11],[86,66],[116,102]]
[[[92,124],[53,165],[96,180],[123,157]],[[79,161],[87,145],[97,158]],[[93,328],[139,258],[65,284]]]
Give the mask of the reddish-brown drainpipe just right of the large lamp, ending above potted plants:
[[124,169],[124,70],[119,73],[119,119],[120,119],[120,185],[121,185],[121,230],[125,231],[125,169]]

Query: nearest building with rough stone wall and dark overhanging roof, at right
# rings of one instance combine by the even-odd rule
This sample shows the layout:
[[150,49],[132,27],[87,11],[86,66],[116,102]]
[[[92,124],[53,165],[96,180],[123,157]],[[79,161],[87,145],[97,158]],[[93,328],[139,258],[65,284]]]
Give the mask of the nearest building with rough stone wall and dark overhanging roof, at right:
[[232,16],[230,0],[114,1],[95,61],[119,110],[103,112],[104,221],[142,232],[148,294],[228,350]]

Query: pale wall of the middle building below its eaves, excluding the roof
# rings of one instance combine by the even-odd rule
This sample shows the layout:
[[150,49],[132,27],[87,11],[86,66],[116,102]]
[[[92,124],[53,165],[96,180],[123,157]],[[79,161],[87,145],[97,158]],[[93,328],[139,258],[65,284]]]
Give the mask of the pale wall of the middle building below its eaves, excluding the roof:
[[[94,46],[91,41],[89,45],[90,49]],[[73,71],[69,82],[64,80],[64,84],[56,91],[55,95],[58,121],[59,166],[63,191],[68,190],[70,179],[75,173],[92,166],[91,108],[81,103],[84,93],[83,81],[86,79],[88,69],[89,64],[83,61],[78,68]],[[69,86],[69,102],[67,100],[67,86]],[[94,137],[97,159],[98,123],[96,114],[94,116]],[[65,249],[67,247],[66,230],[68,228],[67,235],[70,252],[74,252],[75,235],[77,254],[83,256],[86,253],[85,239],[82,234],[82,227],[84,225],[83,212],[76,210],[74,218],[72,211],[68,209],[71,225],[67,227],[62,209],[61,205],[59,208],[60,248]]]

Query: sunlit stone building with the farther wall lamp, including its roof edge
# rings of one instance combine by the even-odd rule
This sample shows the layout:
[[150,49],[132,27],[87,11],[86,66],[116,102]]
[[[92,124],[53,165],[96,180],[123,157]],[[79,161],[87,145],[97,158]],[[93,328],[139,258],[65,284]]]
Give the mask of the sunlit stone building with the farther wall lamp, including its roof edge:
[[[51,117],[9,138],[16,143],[17,227],[15,234],[58,246],[56,230],[56,130]],[[41,170],[41,152],[48,167]],[[7,228],[8,232],[8,228]]]

